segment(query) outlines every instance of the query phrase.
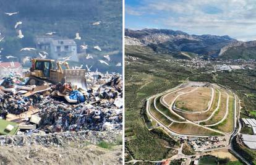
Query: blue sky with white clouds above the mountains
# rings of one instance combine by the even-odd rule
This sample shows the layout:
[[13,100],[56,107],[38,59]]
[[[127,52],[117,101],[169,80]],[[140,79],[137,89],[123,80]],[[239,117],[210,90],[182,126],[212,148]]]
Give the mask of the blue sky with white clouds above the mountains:
[[255,0],[126,0],[126,28],[256,40]]

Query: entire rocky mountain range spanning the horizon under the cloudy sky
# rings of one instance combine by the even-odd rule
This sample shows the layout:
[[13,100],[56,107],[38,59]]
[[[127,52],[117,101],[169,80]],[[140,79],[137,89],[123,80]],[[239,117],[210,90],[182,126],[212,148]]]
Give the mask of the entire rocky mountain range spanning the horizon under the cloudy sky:
[[190,35],[179,30],[125,30],[126,45],[148,46],[155,52],[189,52],[224,59],[256,59],[256,41],[237,41],[228,35]]

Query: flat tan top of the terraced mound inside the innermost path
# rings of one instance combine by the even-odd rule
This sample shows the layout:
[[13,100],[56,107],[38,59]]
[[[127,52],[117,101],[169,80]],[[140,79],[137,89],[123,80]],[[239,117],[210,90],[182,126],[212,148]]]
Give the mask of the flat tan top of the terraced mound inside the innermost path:
[[211,88],[200,87],[192,93],[179,96],[176,107],[187,111],[205,111],[211,100]]

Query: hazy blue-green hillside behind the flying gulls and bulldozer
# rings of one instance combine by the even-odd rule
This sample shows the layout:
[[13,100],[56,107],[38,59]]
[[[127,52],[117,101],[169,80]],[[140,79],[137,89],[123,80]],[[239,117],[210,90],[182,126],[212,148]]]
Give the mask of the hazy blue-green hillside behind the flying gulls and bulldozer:
[[[117,71],[114,67],[122,61],[122,2],[113,1],[38,1],[38,0],[14,0],[0,2],[0,30],[1,36],[5,36],[0,43],[2,55],[22,57],[19,50],[22,47],[35,47],[36,35],[44,35],[47,32],[56,32],[62,38],[75,38],[79,32],[82,40],[76,40],[77,45],[88,44],[87,53],[96,59],[103,59],[106,54],[111,55],[111,67],[98,64],[97,60],[82,60],[83,64],[99,67],[101,70]],[[12,16],[4,12],[19,12]],[[21,29],[24,38],[17,39],[16,22],[22,21],[17,29]],[[100,25],[92,25],[101,21]],[[102,52],[93,49],[100,46]],[[33,55],[33,54],[32,54]],[[85,66],[85,65],[84,65]],[[116,70],[117,69],[117,70]],[[119,67],[121,71],[121,67]]]

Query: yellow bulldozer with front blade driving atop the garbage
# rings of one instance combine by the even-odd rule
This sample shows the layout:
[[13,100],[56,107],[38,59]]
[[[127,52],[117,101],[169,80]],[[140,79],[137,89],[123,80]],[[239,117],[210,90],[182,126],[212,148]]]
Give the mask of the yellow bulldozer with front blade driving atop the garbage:
[[28,85],[41,85],[44,82],[53,84],[69,82],[77,88],[87,88],[85,69],[70,69],[69,64],[54,59],[31,59],[32,67],[25,74],[29,77]]

